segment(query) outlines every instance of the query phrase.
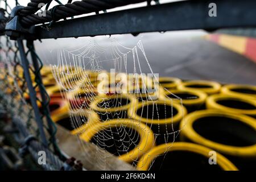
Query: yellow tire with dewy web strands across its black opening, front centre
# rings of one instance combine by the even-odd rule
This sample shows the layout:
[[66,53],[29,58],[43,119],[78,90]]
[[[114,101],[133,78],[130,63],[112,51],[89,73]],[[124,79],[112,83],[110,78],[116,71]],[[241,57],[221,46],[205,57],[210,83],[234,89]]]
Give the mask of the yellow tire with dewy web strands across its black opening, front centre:
[[[88,130],[86,130],[85,133],[80,135],[80,138],[82,140],[85,140],[85,142],[90,142],[93,139],[93,137],[95,135],[97,135],[99,132],[102,132],[104,130],[107,131],[108,129],[111,131],[114,129],[120,129],[120,130],[128,129],[128,131],[126,131],[128,133],[128,136],[129,136],[129,131],[131,131],[131,130],[134,130],[138,134],[139,141],[138,141],[138,144],[134,148],[130,148],[130,151],[127,150],[125,152],[122,152],[124,154],[121,154],[119,152],[115,153],[115,155],[121,154],[118,156],[118,158],[125,162],[131,163],[135,160],[138,160],[138,158],[140,156],[146,154],[146,152],[148,150],[151,150],[151,148],[154,147],[154,142],[155,142],[154,134],[150,130],[150,127],[144,125],[144,123],[133,121],[133,119],[113,119],[108,122],[94,125],[94,126],[88,128]],[[126,135],[127,135],[127,133],[126,133]],[[119,137],[123,136],[123,133],[119,134],[119,135],[115,135],[115,136],[119,136]],[[137,140],[138,138],[134,137],[134,135],[133,135],[129,138],[129,142],[131,140],[132,143],[135,143],[133,140]],[[104,141],[106,140],[106,138],[103,138],[103,137],[102,137],[102,139]],[[113,141],[113,139],[120,141],[119,138],[109,138],[109,141]],[[98,139],[98,140],[100,140],[100,139]],[[123,140],[125,140],[125,138],[123,138],[122,141]],[[101,142],[99,142],[99,143],[101,143]],[[123,144],[125,144],[125,142]],[[114,147],[116,148],[116,146],[114,146]],[[108,146],[106,149],[109,149]]]

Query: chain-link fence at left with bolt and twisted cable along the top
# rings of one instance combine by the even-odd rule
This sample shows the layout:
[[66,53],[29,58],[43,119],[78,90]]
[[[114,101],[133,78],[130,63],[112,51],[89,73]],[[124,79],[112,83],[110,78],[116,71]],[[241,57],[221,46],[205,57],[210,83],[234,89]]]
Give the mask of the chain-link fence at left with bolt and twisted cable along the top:
[[[1,1],[1,110],[3,120],[8,120],[16,141],[22,146],[19,155],[30,152],[37,162],[39,152],[46,152],[44,169],[67,169],[67,160],[56,143],[56,126],[49,112],[49,96],[44,87],[43,63],[34,48],[35,34],[31,27],[43,23],[49,30],[57,20],[73,18],[86,13],[99,13],[106,9],[144,2],[134,1],[55,1],[31,0],[21,6],[16,0]],[[156,1],[157,3],[158,1]],[[22,2],[23,3],[23,2]],[[150,1],[148,1],[150,5]],[[44,23],[49,24],[44,25]],[[34,31],[35,33],[35,31]],[[12,39],[12,40],[11,40]],[[26,46],[24,46],[26,44]],[[6,127],[5,127],[6,128]]]

